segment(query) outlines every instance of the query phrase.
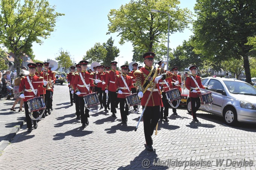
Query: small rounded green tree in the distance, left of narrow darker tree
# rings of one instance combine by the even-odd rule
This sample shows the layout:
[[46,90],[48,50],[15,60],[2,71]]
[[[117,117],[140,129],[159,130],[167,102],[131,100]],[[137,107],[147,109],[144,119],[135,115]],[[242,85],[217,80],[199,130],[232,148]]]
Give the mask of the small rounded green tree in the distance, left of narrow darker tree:
[[99,42],[94,44],[90,50],[86,51],[86,55],[83,57],[84,60],[88,61],[90,64],[93,62],[101,63],[106,57],[107,50]]

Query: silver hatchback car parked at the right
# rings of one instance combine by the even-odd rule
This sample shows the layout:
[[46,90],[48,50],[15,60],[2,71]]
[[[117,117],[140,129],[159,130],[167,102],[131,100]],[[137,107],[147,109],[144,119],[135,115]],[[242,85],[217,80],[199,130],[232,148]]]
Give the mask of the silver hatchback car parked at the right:
[[[256,123],[256,88],[241,80],[220,77],[202,78],[204,86],[212,89],[200,89],[201,93],[212,92],[214,102],[201,105],[200,110],[224,118],[228,125],[237,122]],[[187,111],[191,113],[190,98],[187,99]]]

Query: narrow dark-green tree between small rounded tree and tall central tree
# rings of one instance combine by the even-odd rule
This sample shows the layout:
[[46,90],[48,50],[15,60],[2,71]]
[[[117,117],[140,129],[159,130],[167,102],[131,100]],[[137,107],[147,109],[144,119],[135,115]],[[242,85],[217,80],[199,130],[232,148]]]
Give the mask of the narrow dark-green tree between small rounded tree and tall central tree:
[[103,59],[102,64],[105,66],[109,66],[110,63],[119,56],[120,50],[116,46],[114,46],[114,40],[112,40],[112,37],[110,37],[106,43],[103,43],[103,47],[107,50],[107,54],[106,57]]

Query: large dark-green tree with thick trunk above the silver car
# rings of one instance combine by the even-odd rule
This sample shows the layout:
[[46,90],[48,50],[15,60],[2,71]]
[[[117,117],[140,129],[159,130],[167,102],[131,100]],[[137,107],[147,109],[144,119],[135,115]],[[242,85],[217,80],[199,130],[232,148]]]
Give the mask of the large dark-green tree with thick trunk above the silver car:
[[244,62],[246,81],[251,82],[248,60],[252,47],[247,37],[256,33],[256,1],[197,0],[193,24],[197,53],[216,60],[240,59]]

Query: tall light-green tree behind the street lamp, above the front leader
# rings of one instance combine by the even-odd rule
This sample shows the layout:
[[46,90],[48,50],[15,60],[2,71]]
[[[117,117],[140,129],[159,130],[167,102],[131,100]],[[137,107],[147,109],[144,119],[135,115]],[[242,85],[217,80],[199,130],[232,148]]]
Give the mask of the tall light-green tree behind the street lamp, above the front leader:
[[[180,9],[179,0],[131,0],[108,14],[108,34],[118,32],[120,44],[132,42],[144,53],[153,51],[155,42],[166,42],[168,14],[151,13],[151,9],[170,14],[170,34],[181,32],[191,20],[191,12]],[[166,24],[167,23],[167,24]],[[136,49],[137,51],[137,49]]]

